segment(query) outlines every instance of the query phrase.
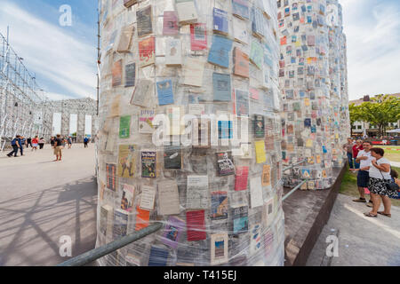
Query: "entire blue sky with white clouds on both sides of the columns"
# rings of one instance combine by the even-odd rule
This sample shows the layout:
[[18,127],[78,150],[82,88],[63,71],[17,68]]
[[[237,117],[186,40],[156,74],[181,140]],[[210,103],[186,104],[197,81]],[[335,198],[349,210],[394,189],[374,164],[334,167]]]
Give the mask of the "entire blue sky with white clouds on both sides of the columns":
[[[51,99],[96,98],[97,0],[1,0],[0,33]],[[61,27],[62,4],[72,26]],[[400,1],[340,0],[349,99],[400,92]]]

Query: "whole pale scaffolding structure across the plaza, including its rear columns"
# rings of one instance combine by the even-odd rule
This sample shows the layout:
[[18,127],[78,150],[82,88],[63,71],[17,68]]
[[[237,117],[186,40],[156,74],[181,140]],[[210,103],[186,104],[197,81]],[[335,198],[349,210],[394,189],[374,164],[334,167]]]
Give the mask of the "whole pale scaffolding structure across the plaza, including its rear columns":
[[[70,135],[70,114],[77,114],[78,142],[84,139],[85,115],[92,115],[92,137],[97,130],[97,107],[93,99],[50,100],[13,51],[7,36],[0,33],[0,152],[15,135],[49,139]],[[61,114],[61,133],[53,133],[53,114]]]

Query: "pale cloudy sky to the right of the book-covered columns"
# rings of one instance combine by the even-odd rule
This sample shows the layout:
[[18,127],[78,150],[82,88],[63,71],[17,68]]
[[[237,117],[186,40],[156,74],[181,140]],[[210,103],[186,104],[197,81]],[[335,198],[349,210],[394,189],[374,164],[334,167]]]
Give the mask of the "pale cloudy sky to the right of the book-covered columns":
[[342,0],[348,38],[349,98],[400,91],[400,4]]

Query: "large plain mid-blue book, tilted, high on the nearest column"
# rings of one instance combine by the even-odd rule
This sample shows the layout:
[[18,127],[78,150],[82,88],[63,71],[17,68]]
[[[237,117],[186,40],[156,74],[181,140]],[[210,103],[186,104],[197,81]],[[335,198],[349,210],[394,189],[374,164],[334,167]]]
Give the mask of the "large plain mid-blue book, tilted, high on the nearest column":
[[208,62],[213,65],[228,68],[229,52],[232,50],[232,40],[224,36],[212,36],[212,48],[208,55]]

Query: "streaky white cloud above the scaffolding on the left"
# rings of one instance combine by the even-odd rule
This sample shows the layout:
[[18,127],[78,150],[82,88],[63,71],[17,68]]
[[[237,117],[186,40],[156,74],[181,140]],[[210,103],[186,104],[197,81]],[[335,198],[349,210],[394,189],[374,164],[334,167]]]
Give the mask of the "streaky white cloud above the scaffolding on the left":
[[95,46],[15,4],[2,3],[0,15],[0,27],[11,26],[12,47],[44,91],[95,98]]

